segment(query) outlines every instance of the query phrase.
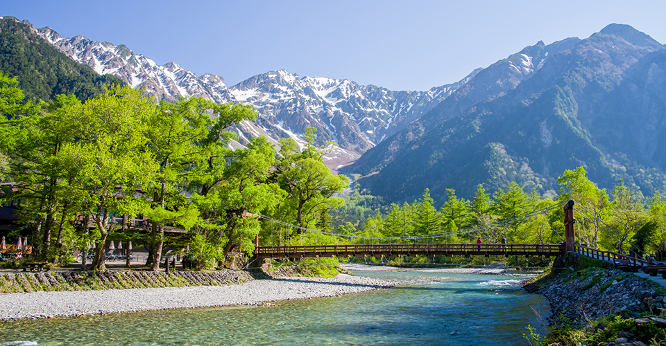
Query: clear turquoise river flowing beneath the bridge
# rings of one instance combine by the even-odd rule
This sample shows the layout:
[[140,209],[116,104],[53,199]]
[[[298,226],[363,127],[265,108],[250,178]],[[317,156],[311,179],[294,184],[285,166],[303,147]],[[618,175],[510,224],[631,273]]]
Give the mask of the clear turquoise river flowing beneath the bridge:
[[362,271],[406,286],[261,307],[112,313],[0,322],[0,345],[527,345],[545,333],[524,277]]

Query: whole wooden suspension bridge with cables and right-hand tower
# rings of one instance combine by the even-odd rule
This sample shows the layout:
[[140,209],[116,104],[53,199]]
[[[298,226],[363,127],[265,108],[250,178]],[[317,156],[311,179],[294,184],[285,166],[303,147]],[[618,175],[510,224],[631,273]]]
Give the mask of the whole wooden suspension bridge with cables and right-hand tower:
[[[289,258],[298,259],[304,257],[366,257],[366,256],[383,256],[383,257],[398,257],[398,256],[436,256],[436,255],[464,255],[464,256],[490,256],[490,255],[524,255],[524,256],[561,256],[565,253],[575,253],[577,255],[590,257],[595,260],[609,262],[621,268],[628,268],[628,271],[638,271],[642,269],[651,275],[661,273],[666,278],[666,265],[656,262],[652,257],[648,256],[642,249],[631,244],[627,239],[622,237],[617,230],[605,224],[603,221],[592,219],[589,215],[592,212],[579,205],[577,208],[581,209],[579,213],[583,220],[587,220],[595,224],[595,227],[602,232],[605,232],[610,238],[620,240],[620,244],[624,243],[626,251],[629,253],[615,253],[612,251],[600,251],[596,248],[590,248],[583,244],[576,244],[576,232],[574,225],[577,221],[574,218],[574,200],[560,204],[549,206],[541,210],[530,212],[520,217],[504,220],[496,224],[490,224],[477,228],[470,228],[467,230],[459,230],[460,233],[478,233],[483,228],[506,226],[514,221],[520,219],[527,219],[538,214],[545,214],[554,210],[555,208],[563,208],[564,212],[564,235],[563,242],[558,244],[445,244],[442,239],[446,239],[454,233],[437,233],[433,235],[419,235],[412,237],[364,237],[359,235],[339,235],[335,233],[325,233],[319,230],[311,230],[301,228],[296,225],[291,225],[259,215],[261,219],[287,226],[291,228],[300,228],[303,232],[310,231],[329,235],[334,237],[345,237],[350,240],[364,239],[364,241],[372,244],[321,244],[321,245],[287,245],[287,246],[259,246],[259,236],[255,239],[255,252],[257,258]],[[620,239],[621,238],[621,239]],[[580,239],[580,238],[579,238]],[[418,241],[426,241],[426,244],[417,243]],[[432,243],[430,242],[432,240]],[[440,242],[436,242],[440,240]],[[404,244],[408,243],[408,244]]]

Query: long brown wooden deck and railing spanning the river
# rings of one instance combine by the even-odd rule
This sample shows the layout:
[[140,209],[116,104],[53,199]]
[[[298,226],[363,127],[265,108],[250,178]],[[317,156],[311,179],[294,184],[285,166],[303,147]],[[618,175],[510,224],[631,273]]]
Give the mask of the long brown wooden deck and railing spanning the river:
[[564,255],[559,244],[372,244],[258,246],[255,255],[270,257],[364,257],[415,255]]

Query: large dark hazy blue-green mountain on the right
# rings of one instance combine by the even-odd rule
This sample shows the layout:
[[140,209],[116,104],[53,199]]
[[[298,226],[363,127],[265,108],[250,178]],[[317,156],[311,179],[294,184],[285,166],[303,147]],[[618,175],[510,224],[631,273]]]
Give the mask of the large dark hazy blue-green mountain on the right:
[[666,188],[665,91],[664,46],[611,24],[493,64],[348,169],[388,201],[511,181],[556,191],[557,176],[579,166],[601,188],[624,179],[652,194]]

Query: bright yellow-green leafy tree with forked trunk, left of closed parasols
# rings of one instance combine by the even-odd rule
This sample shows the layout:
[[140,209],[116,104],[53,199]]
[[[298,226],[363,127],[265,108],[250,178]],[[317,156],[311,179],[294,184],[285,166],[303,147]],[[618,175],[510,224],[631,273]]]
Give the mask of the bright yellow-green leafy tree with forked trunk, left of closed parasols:
[[157,165],[146,150],[146,117],[155,112],[151,95],[128,86],[108,88],[73,113],[77,138],[62,145],[59,167],[71,177],[69,200],[94,222],[97,248],[92,267],[104,270],[105,242],[117,229],[114,215],[137,215],[145,200],[137,189],[153,179]]

